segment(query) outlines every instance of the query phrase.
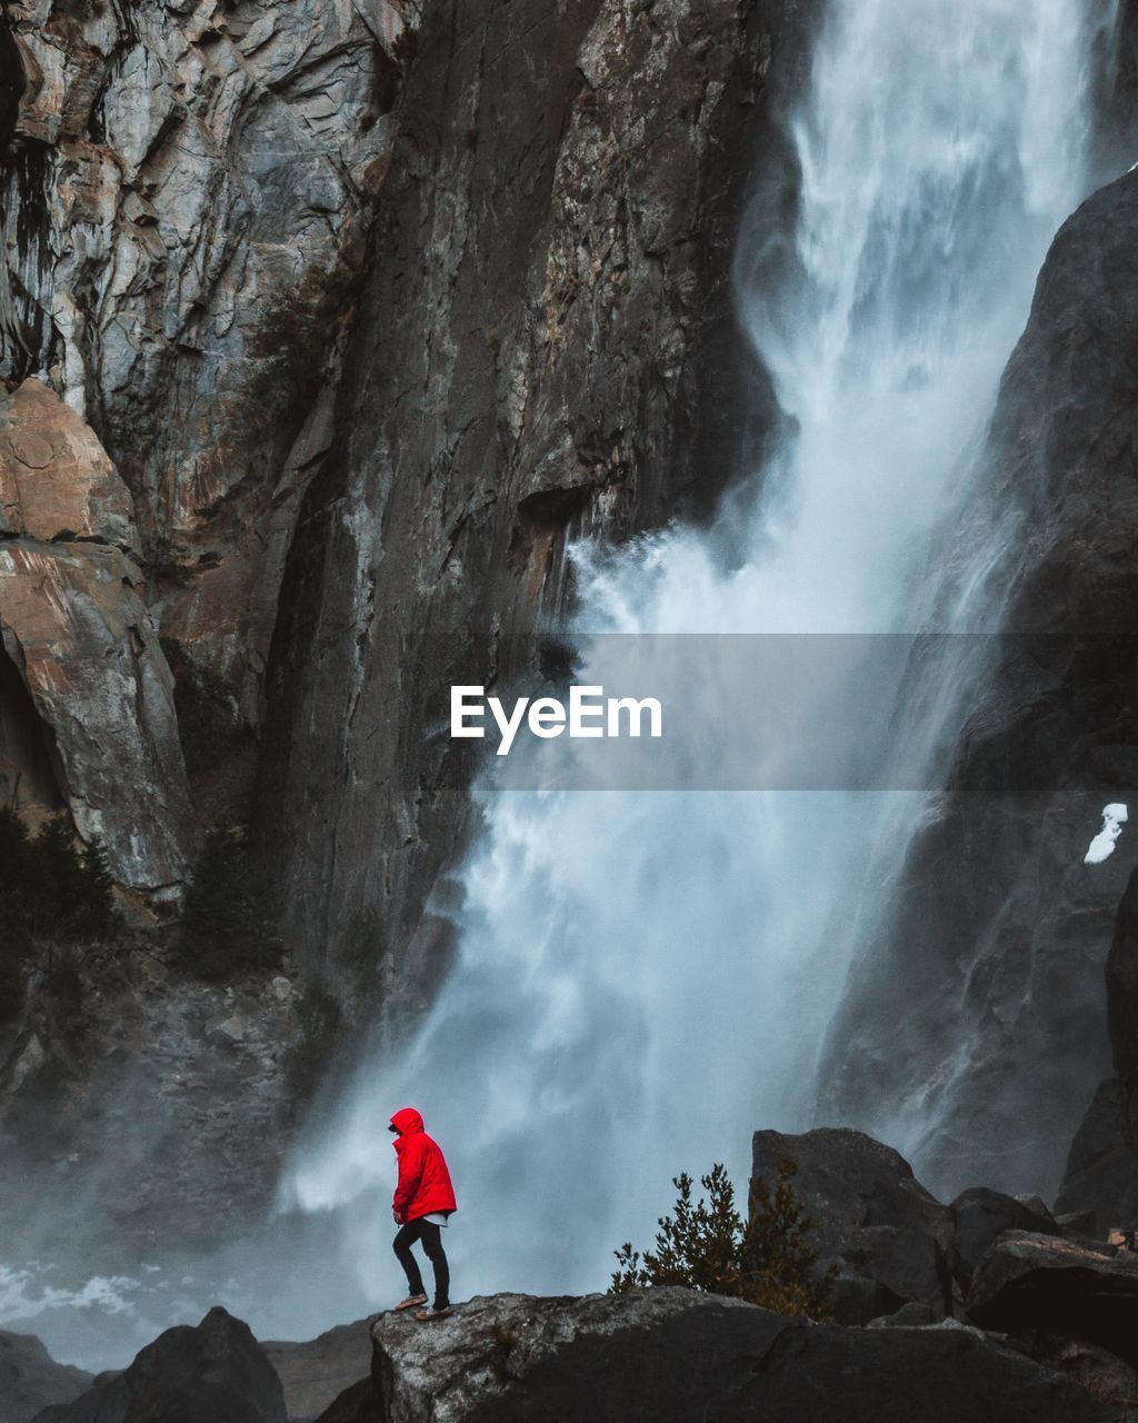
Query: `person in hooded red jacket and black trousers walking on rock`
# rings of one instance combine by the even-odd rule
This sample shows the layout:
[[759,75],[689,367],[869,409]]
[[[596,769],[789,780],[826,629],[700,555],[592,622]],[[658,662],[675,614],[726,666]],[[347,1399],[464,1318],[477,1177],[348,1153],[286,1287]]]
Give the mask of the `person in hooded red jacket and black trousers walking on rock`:
[[451,1173],[441,1147],[422,1130],[422,1117],[414,1107],[400,1107],[387,1130],[395,1133],[394,1147],[400,1163],[400,1178],[391,1201],[391,1214],[400,1232],[391,1248],[403,1265],[408,1288],[407,1299],[400,1301],[395,1309],[427,1303],[418,1261],[411,1254],[415,1241],[422,1241],[422,1251],[435,1272],[435,1299],[430,1309],[415,1309],[415,1319],[441,1319],[451,1308],[451,1272],[442,1249],[442,1227],[457,1208]]

